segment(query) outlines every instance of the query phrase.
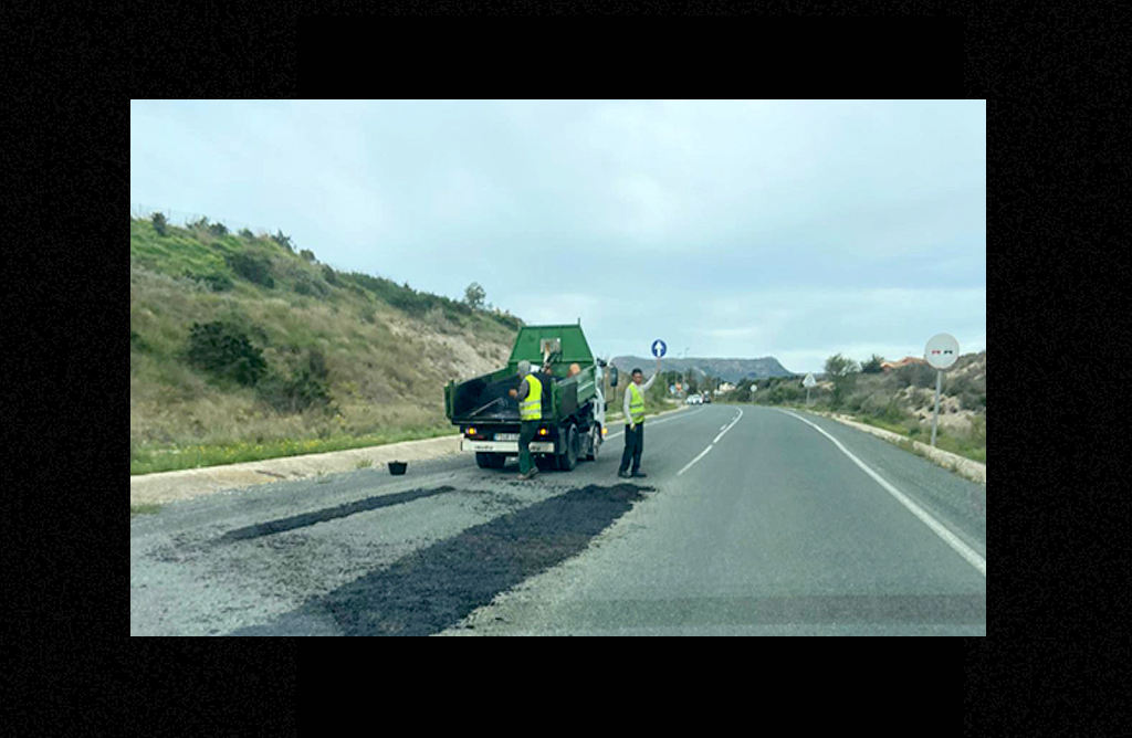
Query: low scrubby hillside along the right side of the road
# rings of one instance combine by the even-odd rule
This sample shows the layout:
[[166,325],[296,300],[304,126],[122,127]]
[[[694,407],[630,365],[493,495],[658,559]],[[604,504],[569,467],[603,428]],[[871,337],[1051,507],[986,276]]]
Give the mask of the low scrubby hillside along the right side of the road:
[[[851,415],[863,422],[928,443],[935,403],[934,369],[914,364],[891,372],[851,374],[841,396],[831,378],[822,378],[811,391],[812,407]],[[723,397],[727,402],[804,405],[806,388],[800,377],[760,379],[739,384]],[[943,374],[936,446],[986,463],[987,455],[987,354],[966,354]]]

